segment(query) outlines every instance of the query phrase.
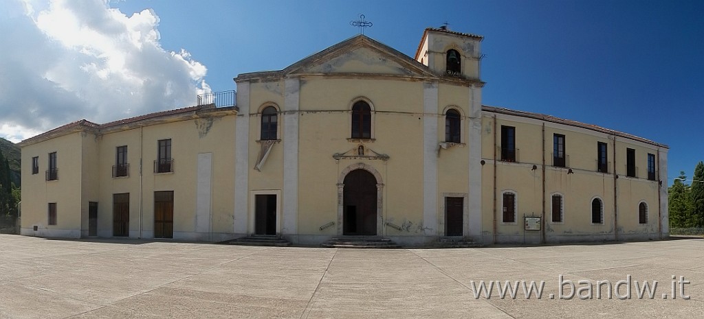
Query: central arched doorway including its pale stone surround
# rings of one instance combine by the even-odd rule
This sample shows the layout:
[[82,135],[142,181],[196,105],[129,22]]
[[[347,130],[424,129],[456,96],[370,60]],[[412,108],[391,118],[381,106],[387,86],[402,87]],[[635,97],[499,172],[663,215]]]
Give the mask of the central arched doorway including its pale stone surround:
[[337,234],[382,235],[382,176],[358,163],[344,169],[337,183]]

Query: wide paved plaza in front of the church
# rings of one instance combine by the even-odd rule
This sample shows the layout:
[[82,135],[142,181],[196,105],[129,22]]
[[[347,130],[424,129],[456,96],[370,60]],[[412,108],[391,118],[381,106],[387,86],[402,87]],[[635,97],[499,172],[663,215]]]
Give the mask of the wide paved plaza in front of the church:
[[[566,280],[589,297],[579,280],[629,275],[657,280],[653,299],[632,283],[630,299],[605,285],[567,298]],[[480,280],[545,283],[540,299],[475,298]],[[704,239],[326,249],[0,235],[0,318],[704,318]]]

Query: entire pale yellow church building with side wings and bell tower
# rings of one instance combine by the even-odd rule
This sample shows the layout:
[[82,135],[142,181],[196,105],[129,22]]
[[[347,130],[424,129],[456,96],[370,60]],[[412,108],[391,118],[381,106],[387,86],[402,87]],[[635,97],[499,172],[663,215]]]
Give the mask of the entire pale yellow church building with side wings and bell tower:
[[239,74],[225,105],[210,95],[29,138],[21,233],[408,247],[667,237],[667,145],[482,105],[482,39],[428,28],[410,57],[360,34]]

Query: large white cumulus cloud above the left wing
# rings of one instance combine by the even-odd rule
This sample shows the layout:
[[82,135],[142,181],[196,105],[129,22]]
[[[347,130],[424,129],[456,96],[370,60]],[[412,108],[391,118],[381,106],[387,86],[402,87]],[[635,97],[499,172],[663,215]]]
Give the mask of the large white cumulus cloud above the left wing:
[[9,0],[0,19],[0,137],[20,141],[77,119],[110,122],[193,105],[207,68],[159,43],[151,9],[106,0]]

